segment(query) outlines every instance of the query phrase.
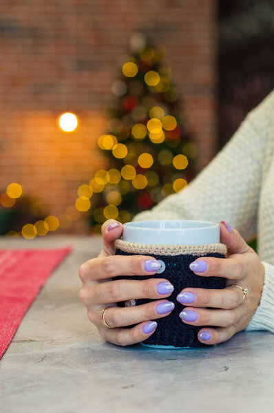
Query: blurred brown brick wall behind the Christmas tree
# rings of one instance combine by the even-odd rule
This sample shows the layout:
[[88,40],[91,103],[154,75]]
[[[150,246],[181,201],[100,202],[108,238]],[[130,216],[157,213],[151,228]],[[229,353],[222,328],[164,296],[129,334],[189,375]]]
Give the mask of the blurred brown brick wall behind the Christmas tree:
[[[216,138],[215,8],[214,0],[1,0],[0,191],[19,182],[47,214],[74,204],[78,185],[103,166],[96,140],[136,30],[167,47],[198,167],[207,165]],[[72,134],[57,125],[66,111],[79,118]]]

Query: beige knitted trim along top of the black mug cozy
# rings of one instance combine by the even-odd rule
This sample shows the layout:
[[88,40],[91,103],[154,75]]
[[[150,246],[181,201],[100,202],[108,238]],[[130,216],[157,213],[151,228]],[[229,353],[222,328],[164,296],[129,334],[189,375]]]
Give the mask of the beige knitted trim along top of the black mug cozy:
[[154,254],[154,255],[204,255],[209,253],[220,253],[226,255],[225,244],[202,244],[202,245],[154,245],[134,244],[123,240],[115,241],[116,248],[127,253]]

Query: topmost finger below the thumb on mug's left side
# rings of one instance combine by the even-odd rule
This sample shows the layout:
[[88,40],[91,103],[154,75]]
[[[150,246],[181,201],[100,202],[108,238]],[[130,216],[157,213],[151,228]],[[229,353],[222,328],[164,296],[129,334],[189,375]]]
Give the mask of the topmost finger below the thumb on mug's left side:
[[118,275],[151,275],[160,263],[147,255],[110,255],[92,258],[81,265],[79,277],[83,282],[117,277]]

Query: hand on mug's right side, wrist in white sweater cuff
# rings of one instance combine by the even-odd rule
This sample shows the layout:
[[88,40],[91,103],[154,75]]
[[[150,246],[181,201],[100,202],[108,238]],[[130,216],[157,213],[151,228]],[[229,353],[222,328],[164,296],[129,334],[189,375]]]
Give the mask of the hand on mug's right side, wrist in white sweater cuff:
[[[182,322],[216,327],[205,327],[198,332],[198,339],[204,344],[222,343],[244,330],[260,304],[264,286],[264,265],[260,258],[238,231],[224,221],[220,222],[220,242],[227,246],[226,259],[200,257],[189,268],[202,277],[225,277],[226,288],[185,288],[177,296],[187,306],[180,313]],[[245,299],[242,289],[232,285],[248,288]]]

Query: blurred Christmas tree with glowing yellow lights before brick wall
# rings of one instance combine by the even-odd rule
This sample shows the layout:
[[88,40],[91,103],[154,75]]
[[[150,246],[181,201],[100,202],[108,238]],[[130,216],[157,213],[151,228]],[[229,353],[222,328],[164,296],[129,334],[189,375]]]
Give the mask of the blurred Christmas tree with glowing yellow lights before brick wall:
[[183,189],[196,175],[196,145],[182,117],[171,70],[163,61],[165,48],[140,35],[131,43],[132,52],[112,85],[116,98],[109,129],[98,140],[107,170],[97,171],[89,186],[78,190],[78,207],[83,204],[83,210],[93,193],[92,233],[109,218],[131,220]]

